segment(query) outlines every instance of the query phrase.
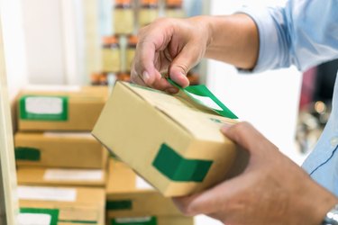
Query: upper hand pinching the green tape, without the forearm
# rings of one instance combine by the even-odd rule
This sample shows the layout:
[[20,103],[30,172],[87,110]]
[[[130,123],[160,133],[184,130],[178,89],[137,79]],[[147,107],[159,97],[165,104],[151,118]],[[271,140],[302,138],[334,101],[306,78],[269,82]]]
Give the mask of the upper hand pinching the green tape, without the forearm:
[[132,81],[176,93],[178,89],[161,76],[168,72],[178,85],[189,85],[187,72],[204,57],[210,41],[203,16],[160,19],[142,28],[132,65]]

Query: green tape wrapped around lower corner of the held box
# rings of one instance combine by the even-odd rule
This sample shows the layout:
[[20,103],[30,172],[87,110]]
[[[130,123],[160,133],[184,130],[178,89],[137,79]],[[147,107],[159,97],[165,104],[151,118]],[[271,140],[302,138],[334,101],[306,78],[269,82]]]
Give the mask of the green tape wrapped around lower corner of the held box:
[[181,157],[167,144],[162,144],[152,162],[161,174],[177,182],[202,182],[213,161],[201,159],[187,159]]

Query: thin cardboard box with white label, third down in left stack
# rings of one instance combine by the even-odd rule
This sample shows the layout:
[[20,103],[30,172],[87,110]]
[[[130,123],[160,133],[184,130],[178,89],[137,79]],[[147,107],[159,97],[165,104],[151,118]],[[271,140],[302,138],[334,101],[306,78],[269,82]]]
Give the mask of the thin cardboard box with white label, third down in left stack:
[[105,187],[106,169],[62,169],[39,166],[18,166],[20,185]]

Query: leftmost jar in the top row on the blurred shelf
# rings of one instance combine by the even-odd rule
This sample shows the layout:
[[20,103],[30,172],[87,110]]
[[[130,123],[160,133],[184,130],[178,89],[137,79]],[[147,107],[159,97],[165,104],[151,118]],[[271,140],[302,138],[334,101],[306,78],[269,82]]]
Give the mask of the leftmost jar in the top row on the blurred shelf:
[[134,30],[134,14],[131,0],[115,0],[114,33],[117,35],[131,34]]

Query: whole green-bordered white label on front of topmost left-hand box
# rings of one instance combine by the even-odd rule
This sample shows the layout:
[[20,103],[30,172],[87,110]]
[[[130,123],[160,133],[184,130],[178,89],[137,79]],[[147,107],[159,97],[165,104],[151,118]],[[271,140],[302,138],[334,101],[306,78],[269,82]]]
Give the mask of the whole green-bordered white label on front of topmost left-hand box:
[[20,99],[20,118],[33,121],[67,121],[68,97],[24,95]]

